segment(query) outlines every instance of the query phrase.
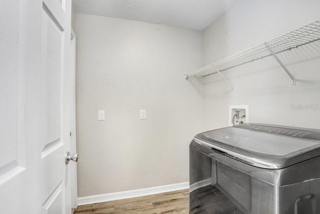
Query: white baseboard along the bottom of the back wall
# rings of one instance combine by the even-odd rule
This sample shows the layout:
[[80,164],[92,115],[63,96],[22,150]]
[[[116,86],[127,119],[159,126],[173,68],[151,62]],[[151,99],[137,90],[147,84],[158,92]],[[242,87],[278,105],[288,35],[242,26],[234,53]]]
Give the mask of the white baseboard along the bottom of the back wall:
[[139,196],[158,194],[158,193],[176,191],[176,190],[187,189],[187,188],[189,188],[189,182],[174,183],[169,185],[155,186],[155,187],[144,188],[144,189],[134,189],[134,190],[122,191],[122,192],[97,194],[97,195],[91,195],[91,196],[85,196],[85,197],[78,197],[78,205],[100,203],[105,201],[119,200],[119,199],[131,198],[131,197],[139,197]]

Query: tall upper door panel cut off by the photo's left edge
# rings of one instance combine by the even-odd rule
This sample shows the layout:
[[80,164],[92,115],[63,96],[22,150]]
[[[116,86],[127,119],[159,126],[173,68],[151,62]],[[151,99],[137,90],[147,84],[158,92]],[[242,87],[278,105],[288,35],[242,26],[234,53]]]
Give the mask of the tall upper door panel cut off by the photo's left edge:
[[[0,13],[0,183],[20,165],[19,144],[20,115],[22,106],[19,91],[21,78],[19,71],[19,44],[17,32],[20,27],[18,2],[11,4]],[[10,20],[10,25],[5,21]],[[10,71],[16,72],[10,72]],[[5,123],[3,123],[5,122]],[[2,179],[1,179],[2,178]]]

